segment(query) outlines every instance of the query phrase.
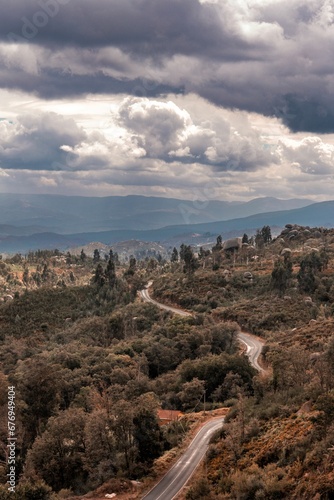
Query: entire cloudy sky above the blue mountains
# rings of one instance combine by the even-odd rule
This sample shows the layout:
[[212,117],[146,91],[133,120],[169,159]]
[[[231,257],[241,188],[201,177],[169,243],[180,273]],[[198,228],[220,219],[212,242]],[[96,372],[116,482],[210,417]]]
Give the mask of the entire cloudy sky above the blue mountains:
[[0,9],[0,192],[334,198],[332,0]]

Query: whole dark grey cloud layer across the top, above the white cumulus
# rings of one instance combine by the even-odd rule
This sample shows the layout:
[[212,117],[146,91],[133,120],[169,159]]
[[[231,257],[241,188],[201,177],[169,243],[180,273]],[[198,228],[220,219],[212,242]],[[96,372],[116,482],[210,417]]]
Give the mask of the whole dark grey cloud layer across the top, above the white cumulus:
[[35,73],[8,57],[0,85],[46,98],[193,92],[292,131],[333,132],[331,3],[249,4],[0,0],[0,41],[38,53]]

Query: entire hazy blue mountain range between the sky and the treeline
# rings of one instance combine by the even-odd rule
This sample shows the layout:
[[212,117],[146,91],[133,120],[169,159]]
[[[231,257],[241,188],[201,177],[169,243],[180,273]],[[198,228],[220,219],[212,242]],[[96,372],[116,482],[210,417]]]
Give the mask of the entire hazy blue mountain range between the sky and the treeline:
[[[282,207],[288,209],[282,210]],[[287,223],[334,227],[334,201],[311,203],[310,200],[259,198],[246,203],[206,203],[143,196],[0,195],[0,209],[0,252],[3,253],[25,253],[38,248],[66,250],[91,242],[111,245],[128,240],[160,242],[165,247],[182,242],[200,245],[214,242],[218,234],[223,239],[244,232],[251,235],[264,225],[278,232]],[[190,218],[196,223],[188,223]],[[208,220],[210,218],[215,220]],[[165,224],[175,219],[177,224]]]

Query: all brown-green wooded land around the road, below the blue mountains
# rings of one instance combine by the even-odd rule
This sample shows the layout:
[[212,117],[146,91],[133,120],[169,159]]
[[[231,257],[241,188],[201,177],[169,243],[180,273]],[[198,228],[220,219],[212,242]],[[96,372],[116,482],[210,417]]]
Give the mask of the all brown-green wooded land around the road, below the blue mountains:
[[[159,457],[219,408],[226,423],[184,498],[332,498],[333,253],[334,231],[287,225],[274,239],[265,226],[229,247],[220,237],[211,249],[181,245],[168,260],[121,264],[98,250],[2,259],[0,499],[140,498]],[[157,300],[193,316],[142,302],[149,281]],[[265,339],[264,375],[240,329]],[[160,425],[159,408],[184,417]]]

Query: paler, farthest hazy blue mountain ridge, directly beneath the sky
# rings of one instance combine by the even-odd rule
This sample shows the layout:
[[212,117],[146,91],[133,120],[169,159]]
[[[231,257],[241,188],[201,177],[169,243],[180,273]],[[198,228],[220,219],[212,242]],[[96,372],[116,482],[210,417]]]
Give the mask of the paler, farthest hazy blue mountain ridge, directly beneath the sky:
[[[37,232],[73,234],[118,229],[158,229],[178,224],[230,220],[253,214],[290,210],[310,200],[257,198],[249,202],[189,201],[145,196],[58,196],[0,193],[0,224]],[[0,235],[6,235],[0,227]],[[13,234],[13,233],[8,233]],[[17,233],[16,233],[17,234]]]

